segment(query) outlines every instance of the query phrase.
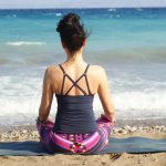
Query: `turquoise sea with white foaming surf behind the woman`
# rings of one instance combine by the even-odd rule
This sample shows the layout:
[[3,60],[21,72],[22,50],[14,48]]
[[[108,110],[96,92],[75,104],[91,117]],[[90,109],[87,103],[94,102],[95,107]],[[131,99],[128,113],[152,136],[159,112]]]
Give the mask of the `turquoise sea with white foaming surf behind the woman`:
[[[105,69],[116,118],[166,118],[166,8],[1,9],[0,125],[35,124],[44,71],[65,61],[55,29],[69,12],[90,33],[84,59]],[[97,95],[93,108],[103,113]]]

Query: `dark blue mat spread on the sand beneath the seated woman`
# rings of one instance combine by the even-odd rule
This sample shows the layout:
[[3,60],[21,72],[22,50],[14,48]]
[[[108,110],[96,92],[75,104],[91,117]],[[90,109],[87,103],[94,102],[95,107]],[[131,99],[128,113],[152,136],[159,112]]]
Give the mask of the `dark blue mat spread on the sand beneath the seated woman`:
[[[151,139],[145,137],[110,138],[110,144],[101,152],[108,153],[157,153],[166,152],[166,139]],[[60,152],[55,154],[61,154]],[[71,154],[71,153],[69,153]],[[1,142],[0,156],[40,156],[50,155],[40,142]]]

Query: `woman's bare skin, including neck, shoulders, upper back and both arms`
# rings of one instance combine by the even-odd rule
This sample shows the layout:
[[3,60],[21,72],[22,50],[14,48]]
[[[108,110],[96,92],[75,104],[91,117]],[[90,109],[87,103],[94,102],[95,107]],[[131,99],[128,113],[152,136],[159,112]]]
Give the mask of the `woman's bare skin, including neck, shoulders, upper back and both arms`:
[[[62,46],[68,55],[66,61],[62,63],[62,66],[74,81],[83,74],[87,65],[87,63],[83,60],[82,56],[84,45],[73,54],[70,53],[65,45],[62,43]],[[103,116],[105,116],[112,122],[115,122],[115,108],[112,102],[105,70],[100,65],[90,65],[86,75],[91,93],[98,94],[100,96],[105,113],[103,114]],[[41,122],[44,122],[49,117],[53,94],[61,93],[62,80],[63,73],[58,65],[49,66],[45,70],[43,79],[42,98],[39,108],[39,120]],[[72,82],[69,79],[66,79],[63,89],[63,94],[71,87],[71,85]],[[89,94],[84,77],[82,77],[77,82],[77,85],[80,85],[86,92],[86,94]],[[83,93],[74,86],[68,95],[83,95]]]

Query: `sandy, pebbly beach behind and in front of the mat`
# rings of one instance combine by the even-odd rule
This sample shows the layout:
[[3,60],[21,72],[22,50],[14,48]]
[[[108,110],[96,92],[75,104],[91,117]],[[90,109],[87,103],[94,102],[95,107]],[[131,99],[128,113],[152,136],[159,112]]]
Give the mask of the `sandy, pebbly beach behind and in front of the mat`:
[[[25,129],[27,128],[27,129]],[[39,141],[38,132],[33,126],[0,133],[0,142]],[[166,138],[166,126],[128,126],[115,127],[113,137],[143,136],[148,138]],[[105,155],[50,155],[50,156],[1,156],[1,166],[166,166],[166,153],[146,154],[105,154]]]

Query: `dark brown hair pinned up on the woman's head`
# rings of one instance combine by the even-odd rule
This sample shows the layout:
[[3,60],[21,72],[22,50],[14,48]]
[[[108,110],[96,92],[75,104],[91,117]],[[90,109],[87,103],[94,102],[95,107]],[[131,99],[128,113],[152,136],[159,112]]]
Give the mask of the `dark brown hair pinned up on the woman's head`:
[[77,14],[69,13],[58,23],[56,31],[60,33],[62,42],[71,53],[80,50],[89,35],[80,20]]

